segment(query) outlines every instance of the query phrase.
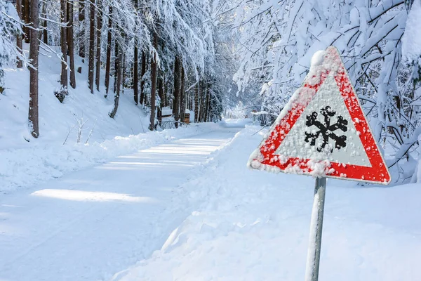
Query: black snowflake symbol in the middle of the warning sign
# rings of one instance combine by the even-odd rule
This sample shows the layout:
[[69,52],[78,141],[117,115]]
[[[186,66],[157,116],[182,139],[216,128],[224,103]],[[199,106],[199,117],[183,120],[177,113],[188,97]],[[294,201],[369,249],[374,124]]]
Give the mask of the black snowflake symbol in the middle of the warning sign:
[[[314,146],[316,145],[316,139],[319,138],[321,135],[321,138],[323,138],[323,143],[321,144],[321,147],[317,148],[317,151],[321,152],[323,148],[329,143],[329,138],[333,139],[335,141],[335,148],[340,150],[340,148],[345,148],[347,146],[347,136],[337,136],[333,131],[336,131],[340,129],[341,131],[347,131],[347,124],[348,121],[344,119],[342,116],[338,116],[338,120],[335,124],[330,125],[330,118],[335,116],[336,112],[332,109],[330,109],[330,106],[326,106],[324,108],[321,108],[320,110],[321,115],[324,116],[324,124],[321,124],[321,122],[317,119],[317,112],[313,112],[312,115],[307,115],[307,122],[305,122],[306,126],[316,126],[319,131],[316,131],[316,133],[307,133],[305,132],[305,141],[306,143],[310,142],[310,145]],[[332,152],[330,150],[330,152]]]

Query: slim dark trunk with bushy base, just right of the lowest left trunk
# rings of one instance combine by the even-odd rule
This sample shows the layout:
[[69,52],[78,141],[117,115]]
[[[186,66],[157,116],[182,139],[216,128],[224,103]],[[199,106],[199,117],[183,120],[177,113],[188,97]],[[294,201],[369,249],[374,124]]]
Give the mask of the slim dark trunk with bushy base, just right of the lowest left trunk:
[[60,0],[60,46],[62,53],[61,74],[60,74],[60,91],[55,96],[63,102],[67,95],[67,27],[66,25],[66,0]]

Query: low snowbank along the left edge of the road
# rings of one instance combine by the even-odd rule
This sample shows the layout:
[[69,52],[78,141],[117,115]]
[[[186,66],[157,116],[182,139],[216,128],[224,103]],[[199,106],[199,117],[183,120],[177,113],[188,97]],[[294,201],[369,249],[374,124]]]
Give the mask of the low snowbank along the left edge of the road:
[[102,143],[74,145],[48,144],[29,148],[1,150],[0,192],[58,178],[69,171],[106,162],[114,157],[211,131],[217,124],[206,123],[161,132],[148,131],[127,137],[117,136]]

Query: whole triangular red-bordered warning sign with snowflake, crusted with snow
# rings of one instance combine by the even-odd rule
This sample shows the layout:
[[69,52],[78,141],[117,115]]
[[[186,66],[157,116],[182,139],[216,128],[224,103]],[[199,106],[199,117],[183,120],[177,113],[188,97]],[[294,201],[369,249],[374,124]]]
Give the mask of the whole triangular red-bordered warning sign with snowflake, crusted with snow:
[[385,160],[335,47],[313,56],[304,83],[248,165],[291,174],[390,182]]

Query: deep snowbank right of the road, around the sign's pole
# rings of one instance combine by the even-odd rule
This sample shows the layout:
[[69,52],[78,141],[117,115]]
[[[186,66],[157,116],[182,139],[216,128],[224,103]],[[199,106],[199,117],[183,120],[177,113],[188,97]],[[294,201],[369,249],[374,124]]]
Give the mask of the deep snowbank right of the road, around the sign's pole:
[[[304,280],[314,179],[248,170],[259,129],[238,133],[182,186],[168,208],[192,214],[113,280]],[[326,193],[320,280],[421,280],[421,185],[328,180]]]

